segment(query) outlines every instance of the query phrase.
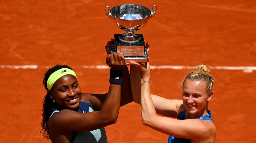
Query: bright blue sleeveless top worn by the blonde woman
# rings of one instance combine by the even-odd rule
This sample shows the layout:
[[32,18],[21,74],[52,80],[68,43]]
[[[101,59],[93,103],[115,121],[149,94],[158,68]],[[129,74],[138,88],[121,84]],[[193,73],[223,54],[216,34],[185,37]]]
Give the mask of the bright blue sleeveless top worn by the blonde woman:
[[[212,113],[211,113],[211,111],[208,110],[208,113],[209,113],[209,115],[205,115],[205,116],[202,116],[202,117],[199,117],[199,118],[196,118],[196,119],[212,121],[212,117],[211,117]],[[179,114],[177,119],[184,120],[185,116],[186,116],[186,111],[182,111]],[[178,137],[174,137],[174,136],[170,135],[169,138],[168,138],[168,143],[191,143],[191,141],[190,141],[190,139],[178,138]]]

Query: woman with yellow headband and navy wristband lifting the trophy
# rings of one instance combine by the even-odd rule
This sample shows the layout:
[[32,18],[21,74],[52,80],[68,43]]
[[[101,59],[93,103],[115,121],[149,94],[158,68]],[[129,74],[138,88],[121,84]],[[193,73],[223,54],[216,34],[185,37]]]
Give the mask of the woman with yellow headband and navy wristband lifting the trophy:
[[53,143],[107,143],[104,127],[114,124],[119,107],[133,99],[124,56],[108,54],[106,63],[111,68],[110,86],[108,93],[101,95],[82,93],[75,72],[68,66],[56,65],[45,73],[44,138]]

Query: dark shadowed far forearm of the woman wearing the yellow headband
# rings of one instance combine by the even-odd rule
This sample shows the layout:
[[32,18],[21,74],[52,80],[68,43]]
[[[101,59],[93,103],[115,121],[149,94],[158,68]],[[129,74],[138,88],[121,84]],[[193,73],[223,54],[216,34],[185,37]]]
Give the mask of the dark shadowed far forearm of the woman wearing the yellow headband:
[[123,68],[123,82],[121,84],[121,103],[120,106],[133,102],[130,74],[128,67]]

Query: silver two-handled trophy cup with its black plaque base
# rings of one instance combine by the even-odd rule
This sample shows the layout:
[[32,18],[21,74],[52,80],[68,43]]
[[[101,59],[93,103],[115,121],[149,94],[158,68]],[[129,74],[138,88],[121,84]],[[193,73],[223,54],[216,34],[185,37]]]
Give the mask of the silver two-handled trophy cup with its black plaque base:
[[120,52],[125,56],[125,62],[148,62],[145,41],[142,34],[135,34],[147,21],[156,14],[157,6],[151,10],[134,4],[123,4],[110,9],[105,7],[106,15],[117,23],[124,34],[114,34],[116,47],[111,47],[112,52]]

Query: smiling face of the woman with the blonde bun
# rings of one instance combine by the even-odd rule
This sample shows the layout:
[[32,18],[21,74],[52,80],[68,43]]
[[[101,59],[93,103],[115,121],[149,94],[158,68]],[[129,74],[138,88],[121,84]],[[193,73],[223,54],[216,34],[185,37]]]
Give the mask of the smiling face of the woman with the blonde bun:
[[203,80],[186,79],[183,84],[182,100],[189,114],[203,113],[213,92],[207,93]]

